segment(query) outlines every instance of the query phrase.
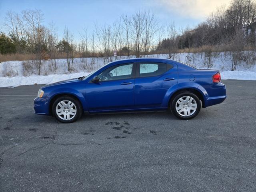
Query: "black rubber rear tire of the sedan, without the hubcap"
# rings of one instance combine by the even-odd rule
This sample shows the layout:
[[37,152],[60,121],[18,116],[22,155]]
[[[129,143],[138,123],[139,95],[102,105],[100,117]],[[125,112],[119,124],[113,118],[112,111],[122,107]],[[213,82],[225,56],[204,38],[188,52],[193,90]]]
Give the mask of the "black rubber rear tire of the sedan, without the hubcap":
[[[176,105],[177,100],[184,96],[190,96],[190,97],[194,98],[194,100],[196,101],[196,104],[197,104],[196,112],[192,116],[184,117],[184,116],[181,116],[180,114],[178,114],[178,112],[176,111],[175,105]],[[182,92],[180,94],[177,94],[173,98],[170,108],[171,108],[172,114],[174,114],[177,118],[182,119],[182,120],[188,120],[188,119],[192,119],[198,115],[198,113],[200,112],[200,109],[201,109],[201,102],[200,102],[200,99],[198,98],[198,96],[196,96],[194,93]]]

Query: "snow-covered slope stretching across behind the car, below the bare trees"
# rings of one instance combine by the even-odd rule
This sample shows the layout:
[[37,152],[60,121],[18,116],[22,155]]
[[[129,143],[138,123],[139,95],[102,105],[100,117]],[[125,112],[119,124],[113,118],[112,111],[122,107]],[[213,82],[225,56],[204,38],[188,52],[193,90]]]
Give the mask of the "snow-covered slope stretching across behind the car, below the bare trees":
[[[236,71],[230,71],[232,56],[230,52],[213,53],[210,65],[208,57],[204,53],[181,53],[174,54],[172,58],[187,63],[198,69],[220,70],[222,79],[256,80],[256,55],[255,52],[247,51],[246,61],[238,62]],[[168,54],[149,55],[147,57],[168,58]],[[118,59],[125,59],[126,56],[118,56]],[[189,58],[189,59],[188,59]],[[108,58],[74,58],[73,73],[67,69],[66,59],[56,59],[42,62],[42,75],[36,70],[36,61],[8,61],[0,63],[0,87],[15,87],[20,85],[49,84],[86,76],[97,70],[108,62],[114,60]]]

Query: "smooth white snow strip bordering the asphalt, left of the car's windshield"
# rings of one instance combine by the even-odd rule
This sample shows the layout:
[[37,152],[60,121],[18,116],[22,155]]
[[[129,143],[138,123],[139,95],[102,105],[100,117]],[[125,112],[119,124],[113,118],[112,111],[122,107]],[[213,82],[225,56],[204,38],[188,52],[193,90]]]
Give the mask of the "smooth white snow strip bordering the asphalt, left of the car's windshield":
[[28,77],[0,77],[0,87],[17,87],[21,85],[50,84],[62,80],[87,76],[88,74],[90,73],[84,72],[48,76],[33,75]]

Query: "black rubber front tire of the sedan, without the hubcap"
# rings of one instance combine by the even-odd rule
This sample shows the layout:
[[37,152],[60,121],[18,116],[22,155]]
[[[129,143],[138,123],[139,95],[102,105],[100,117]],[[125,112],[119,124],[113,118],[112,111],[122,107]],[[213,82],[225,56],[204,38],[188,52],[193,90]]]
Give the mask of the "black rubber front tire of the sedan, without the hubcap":
[[[58,115],[56,114],[56,106],[60,101],[63,101],[63,100],[71,101],[76,106],[76,115],[71,120],[63,120],[63,119],[59,118]],[[80,116],[82,115],[82,106],[78,100],[76,100],[70,96],[61,96],[61,97],[57,98],[54,101],[54,103],[52,104],[52,114],[54,114],[55,118],[62,123],[72,123],[72,122],[75,122],[76,120],[78,120],[78,118],[80,118]]]

